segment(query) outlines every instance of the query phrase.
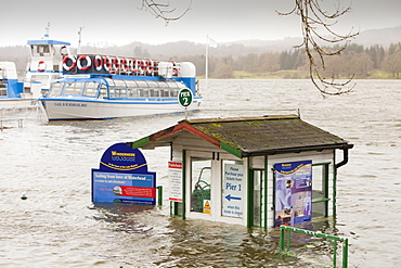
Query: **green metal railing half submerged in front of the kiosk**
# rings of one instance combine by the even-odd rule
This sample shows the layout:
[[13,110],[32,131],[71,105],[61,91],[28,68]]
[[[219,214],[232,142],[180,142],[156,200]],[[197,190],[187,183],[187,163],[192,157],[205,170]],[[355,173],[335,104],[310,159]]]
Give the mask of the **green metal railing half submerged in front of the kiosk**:
[[[285,232],[287,235],[285,235]],[[342,243],[342,268],[348,268],[348,239],[338,238],[331,234],[325,234],[321,232],[308,231],[299,228],[294,228],[289,226],[280,227],[280,251],[289,251],[290,250],[290,232],[303,233],[307,235],[312,235],[316,238],[329,239],[333,241],[334,251],[333,251],[333,267],[337,267],[337,243]],[[287,246],[284,250],[285,238],[287,240]]]

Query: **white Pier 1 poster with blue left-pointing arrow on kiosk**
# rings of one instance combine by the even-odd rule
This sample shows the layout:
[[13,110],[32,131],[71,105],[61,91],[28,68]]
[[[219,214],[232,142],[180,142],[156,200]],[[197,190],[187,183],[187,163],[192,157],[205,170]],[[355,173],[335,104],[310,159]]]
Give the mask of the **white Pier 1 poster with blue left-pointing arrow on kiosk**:
[[222,216],[242,218],[244,215],[243,165],[224,164]]

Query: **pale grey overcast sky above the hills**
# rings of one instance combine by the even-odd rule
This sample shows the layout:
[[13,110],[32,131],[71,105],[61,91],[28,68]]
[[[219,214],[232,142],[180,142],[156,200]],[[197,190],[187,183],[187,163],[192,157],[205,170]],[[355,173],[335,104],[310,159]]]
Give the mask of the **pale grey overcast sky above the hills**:
[[[165,0],[159,0],[165,1]],[[341,0],[348,5],[351,0]],[[280,16],[294,7],[294,0],[192,0],[191,10],[167,26],[141,0],[9,0],[1,3],[0,46],[26,44],[40,39],[50,22],[50,37],[78,44],[127,44],[132,41],[165,43],[178,40],[217,42],[244,39],[274,40],[301,35],[296,15]],[[190,0],[169,0],[179,14]],[[338,0],[323,0],[334,7]],[[340,17],[339,34],[401,26],[401,0],[352,0],[352,11]]]

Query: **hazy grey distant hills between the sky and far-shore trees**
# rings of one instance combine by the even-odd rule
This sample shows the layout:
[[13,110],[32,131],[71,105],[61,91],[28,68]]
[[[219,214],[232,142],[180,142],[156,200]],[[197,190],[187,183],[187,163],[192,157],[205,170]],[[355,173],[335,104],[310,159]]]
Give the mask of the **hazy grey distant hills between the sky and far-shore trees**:
[[[300,44],[302,40],[300,37],[287,37],[280,40],[240,40],[235,42],[223,42],[219,43],[217,48],[209,48],[209,55],[214,58],[235,58],[250,53],[261,54],[267,51],[280,52],[292,50],[294,46]],[[389,47],[390,43],[397,42],[401,42],[401,26],[364,30],[352,40],[352,43],[362,44],[366,48],[373,44],[380,44],[386,48]],[[185,56],[205,55],[206,44],[190,41],[167,42],[163,44],[132,42],[120,47],[86,46],[82,47],[81,51],[82,53],[90,54],[171,60],[173,58],[183,59]],[[15,62],[21,72],[25,69],[28,56],[29,51],[27,46],[0,47],[0,61]]]

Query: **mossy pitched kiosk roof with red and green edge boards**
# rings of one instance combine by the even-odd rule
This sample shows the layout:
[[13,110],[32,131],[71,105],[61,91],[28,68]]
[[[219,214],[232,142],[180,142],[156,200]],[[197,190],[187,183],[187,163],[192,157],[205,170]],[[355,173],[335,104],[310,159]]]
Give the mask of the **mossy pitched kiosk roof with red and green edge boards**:
[[132,142],[132,148],[167,146],[191,132],[237,157],[351,149],[344,139],[314,127],[295,115],[181,120],[177,125]]

